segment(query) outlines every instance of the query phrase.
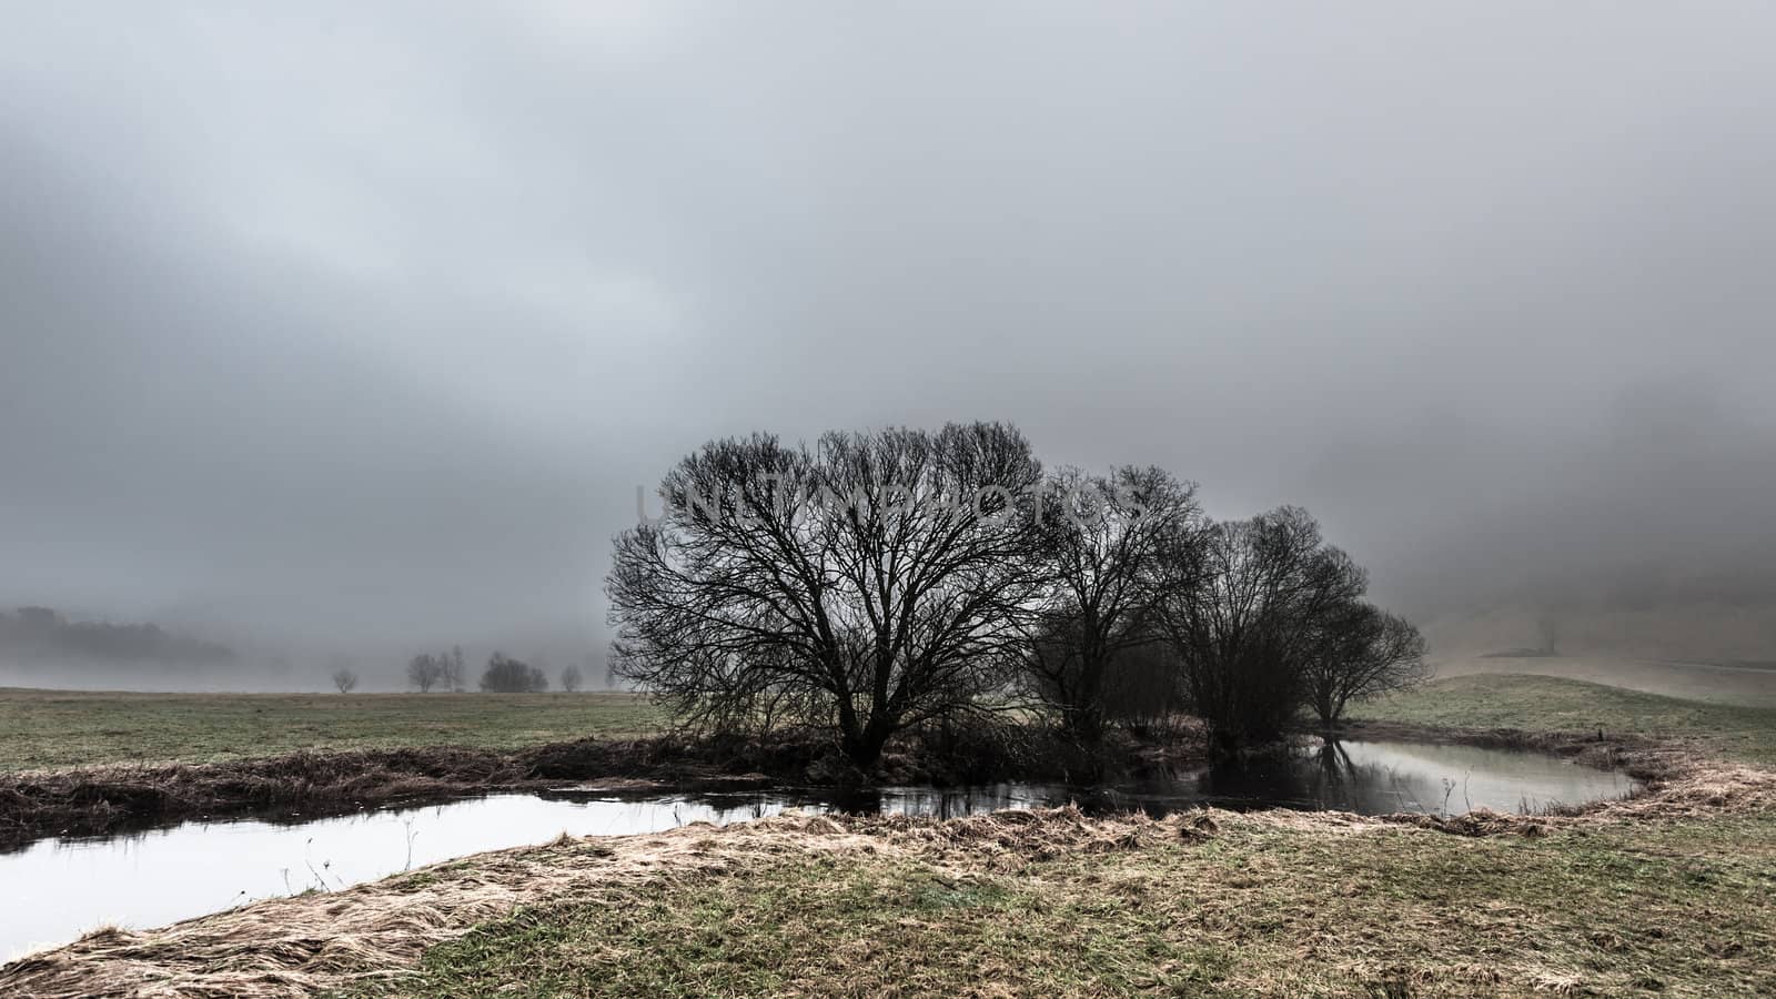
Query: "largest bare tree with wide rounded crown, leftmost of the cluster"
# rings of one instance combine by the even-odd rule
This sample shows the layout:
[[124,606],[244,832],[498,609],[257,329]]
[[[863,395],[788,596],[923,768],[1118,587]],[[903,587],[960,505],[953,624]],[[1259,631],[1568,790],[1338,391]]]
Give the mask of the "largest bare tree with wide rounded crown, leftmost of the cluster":
[[666,475],[662,519],[616,539],[613,668],[687,722],[790,711],[868,768],[1005,683],[1041,588],[1039,480],[998,423],[709,443]]

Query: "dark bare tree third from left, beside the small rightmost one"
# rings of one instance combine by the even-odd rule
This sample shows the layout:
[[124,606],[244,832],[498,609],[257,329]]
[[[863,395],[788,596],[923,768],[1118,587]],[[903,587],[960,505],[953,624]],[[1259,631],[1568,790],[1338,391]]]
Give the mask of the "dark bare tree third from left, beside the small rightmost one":
[[1362,569],[1298,507],[1213,524],[1170,563],[1179,583],[1167,588],[1160,622],[1213,748],[1280,738],[1300,706],[1316,624],[1362,595]]

